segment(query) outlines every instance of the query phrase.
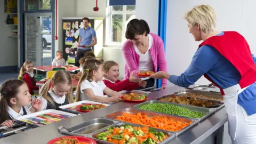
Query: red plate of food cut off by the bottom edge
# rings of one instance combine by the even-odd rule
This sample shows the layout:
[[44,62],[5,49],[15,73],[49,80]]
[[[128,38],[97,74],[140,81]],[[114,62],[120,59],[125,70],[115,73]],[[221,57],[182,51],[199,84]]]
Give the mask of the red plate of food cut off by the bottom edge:
[[67,136],[50,140],[47,144],[97,144],[96,141],[86,137]]

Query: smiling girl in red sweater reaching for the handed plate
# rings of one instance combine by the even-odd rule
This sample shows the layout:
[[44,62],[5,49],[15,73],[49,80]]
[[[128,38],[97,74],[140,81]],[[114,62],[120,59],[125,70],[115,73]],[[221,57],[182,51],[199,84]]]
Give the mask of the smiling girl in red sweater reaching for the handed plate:
[[145,87],[146,81],[141,81],[133,76],[130,78],[125,79],[124,81],[120,81],[119,77],[119,66],[115,61],[106,61],[103,63],[103,70],[104,70],[104,79],[103,82],[109,89],[114,91],[131,91],[137,89],[139,86]]

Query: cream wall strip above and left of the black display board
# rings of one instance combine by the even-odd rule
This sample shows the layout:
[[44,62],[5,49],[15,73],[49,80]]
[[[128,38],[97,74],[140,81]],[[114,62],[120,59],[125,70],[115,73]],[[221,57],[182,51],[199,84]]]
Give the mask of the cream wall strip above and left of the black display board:
[[63,17],[76,17],[76,1],[72,0],[70,3],[70,0],[59,0],[58,1],[58,7],[57,7],[57,34],[58,34],[58,40],[55,40],[55,52],[58,50],[62,51],[62,39],[63,39],[63,26],[62,26],[62,19]]

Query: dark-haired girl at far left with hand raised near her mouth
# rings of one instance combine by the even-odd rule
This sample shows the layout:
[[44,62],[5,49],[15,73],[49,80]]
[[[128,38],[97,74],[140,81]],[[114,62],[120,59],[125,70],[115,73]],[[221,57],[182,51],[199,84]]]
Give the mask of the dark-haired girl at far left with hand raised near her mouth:
[[33,113],[27,107],[31,103],[34,111],[40,111],[42,101],[33,99],[27,84],[19,79],[8,79],[0,87],[0,123],[1,126],[12,127],[17,117]]

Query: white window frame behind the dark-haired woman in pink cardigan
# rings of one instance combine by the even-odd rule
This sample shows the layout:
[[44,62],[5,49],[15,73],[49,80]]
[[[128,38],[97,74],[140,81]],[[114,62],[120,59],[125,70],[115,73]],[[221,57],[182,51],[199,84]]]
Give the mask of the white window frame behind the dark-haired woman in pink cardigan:
[[[108,3],[109,4],[109,3]],[[106,36],[105,36],[105,45],[114,45],[114,46],[120,46],[122,45],[125,41],[125,30],[126,30],[126,25],[125,25],[125,21],[126,21],[126,15],[127,14],[134,14],[135,15],[135,11],[127,11],[126,10],[126,5],[123,5],[123,11],[113,11],[112,10],[113,6],[107,6],[106,9]],[[112,41],[112,37],[111,37],[111,33],[113,30],[113,26],[112,26],[112,15],[113,14],[122,14],[123,15],[123,25],[122,25],[122,42],[111,42]]]

